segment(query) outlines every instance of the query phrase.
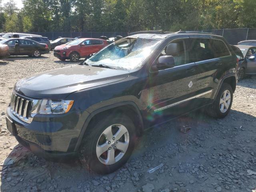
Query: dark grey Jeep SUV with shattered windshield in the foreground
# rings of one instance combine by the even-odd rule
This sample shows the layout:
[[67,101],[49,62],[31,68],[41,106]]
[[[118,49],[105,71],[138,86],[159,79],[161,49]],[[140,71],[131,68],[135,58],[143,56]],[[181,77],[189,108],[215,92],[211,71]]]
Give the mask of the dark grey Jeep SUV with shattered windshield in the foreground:
[[221,36],[135,34],[79,65],[18,81],[7,127],[38,156],[78,155],[94,172],[113,172],[153,124],[203,107],[224,118],[236,68],[237,57]]

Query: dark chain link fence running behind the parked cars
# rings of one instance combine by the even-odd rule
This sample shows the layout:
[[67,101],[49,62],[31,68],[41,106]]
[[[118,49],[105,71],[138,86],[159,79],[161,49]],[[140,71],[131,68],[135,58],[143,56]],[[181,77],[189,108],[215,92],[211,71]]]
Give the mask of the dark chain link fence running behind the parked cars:
[[[240,29],[218,29],[218,30],[197,30],[199,32],[215,33],[223,36],[229,44],[236,45],[244,40],[256,40],[256,28],[240,28]],[[100,36],[115,37],[117,35],[126,37],[128,32],[29,32],[30,34],[38,34],[48,37],[49,40],[57,39],[58,37],[75,38],[99,38]]]

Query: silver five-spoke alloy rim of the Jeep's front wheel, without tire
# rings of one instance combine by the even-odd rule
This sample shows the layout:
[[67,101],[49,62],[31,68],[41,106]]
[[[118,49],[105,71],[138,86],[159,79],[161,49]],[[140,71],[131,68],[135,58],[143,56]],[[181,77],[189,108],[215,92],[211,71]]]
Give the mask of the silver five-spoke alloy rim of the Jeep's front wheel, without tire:
[[125,126],[114,124],[106,128],[98,139],[96,155],[105,165],[118,162],[129,146],[129,133]]

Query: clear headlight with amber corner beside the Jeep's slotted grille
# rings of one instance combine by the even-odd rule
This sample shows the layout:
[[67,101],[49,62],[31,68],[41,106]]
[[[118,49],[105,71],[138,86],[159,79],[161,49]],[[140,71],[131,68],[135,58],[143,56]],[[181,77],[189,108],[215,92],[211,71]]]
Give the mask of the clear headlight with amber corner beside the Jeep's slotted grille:
[[38,114],[61,114],[67,113],[72,107],[72,100],[46,100],[40,101]]

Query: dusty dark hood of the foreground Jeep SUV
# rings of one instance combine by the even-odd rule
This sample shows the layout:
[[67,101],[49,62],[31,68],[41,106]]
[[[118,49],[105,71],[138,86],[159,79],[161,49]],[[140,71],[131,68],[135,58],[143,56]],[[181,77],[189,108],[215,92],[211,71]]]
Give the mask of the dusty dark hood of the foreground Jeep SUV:
[[18,81],[14,90],[35,99],[64,99],[72,92],[92,88],[128,77],[130,72],[75,65],[42,72]]

